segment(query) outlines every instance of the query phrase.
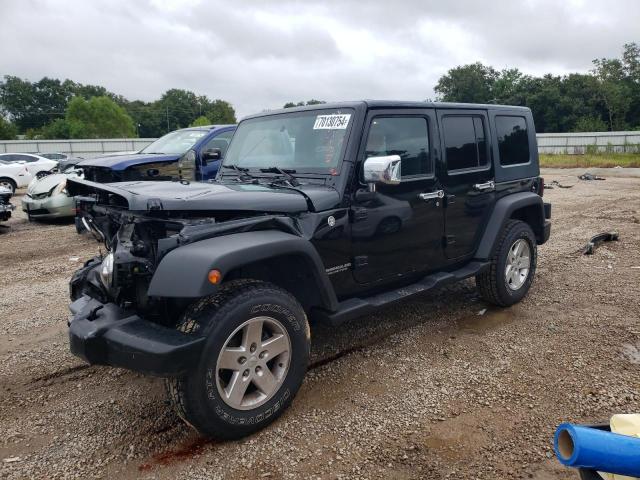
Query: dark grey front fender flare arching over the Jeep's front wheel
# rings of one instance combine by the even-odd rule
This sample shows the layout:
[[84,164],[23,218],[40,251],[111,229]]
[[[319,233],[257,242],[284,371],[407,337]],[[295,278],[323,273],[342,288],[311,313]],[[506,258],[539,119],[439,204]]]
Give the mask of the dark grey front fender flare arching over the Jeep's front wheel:
[[219,285],[208,280],[209,271],[230,271],[260,260],[297,254],[312,269],[323,306],[337,309],[333,286],[311,242],[277,230],[234,233],[209,238],[171,250],[158,264],[149,284],[149,296],[199,298],[215,293]]

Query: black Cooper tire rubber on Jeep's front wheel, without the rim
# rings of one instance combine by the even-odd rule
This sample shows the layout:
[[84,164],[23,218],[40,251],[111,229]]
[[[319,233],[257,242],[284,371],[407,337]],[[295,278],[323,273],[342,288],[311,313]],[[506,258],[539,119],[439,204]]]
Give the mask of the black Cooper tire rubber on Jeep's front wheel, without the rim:
[[[290,364],[278,391],[252,410],[238,410],[221,398],[213,375],[229,335],[251,317],[268,315],[281,322],[291,342]],[[165,380],[176,413],[201,434],[218,440],[244,437],[273,422],[298,392],[309,363],[310,330],[306,314],[287,291],[257,280],[234,280],[216,294],[194,302],[177,328],[207,337],[197,367],[187,375]]]

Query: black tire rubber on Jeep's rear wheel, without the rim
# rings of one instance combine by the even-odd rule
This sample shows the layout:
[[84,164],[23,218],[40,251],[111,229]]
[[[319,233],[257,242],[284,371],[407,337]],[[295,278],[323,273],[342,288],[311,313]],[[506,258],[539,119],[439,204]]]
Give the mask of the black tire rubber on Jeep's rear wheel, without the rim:
[[[529,274],[520,288],[512,290],[505,281],[507,255],[519,239],[525,240],[531,250]],[[538,258],[536,237],[531,227],[520,220],[508,220],[494,249],[489,269],[476,276],[480,296],[489,303],[508,307],[518,303],[529,291],[536,272]]]

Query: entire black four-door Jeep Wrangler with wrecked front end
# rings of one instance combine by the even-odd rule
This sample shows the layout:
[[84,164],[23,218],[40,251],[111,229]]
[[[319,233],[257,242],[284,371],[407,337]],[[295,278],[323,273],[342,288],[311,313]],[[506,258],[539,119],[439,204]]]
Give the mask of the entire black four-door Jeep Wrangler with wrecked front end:
[[309,321],[472,276],[512,305],[550,232],[531,112],[508,106],[267,112],[240,123],[215,182],[67,188],[107,248],[71,280],[71,351],[166,377],[180,416],[220,439],[291,403]]

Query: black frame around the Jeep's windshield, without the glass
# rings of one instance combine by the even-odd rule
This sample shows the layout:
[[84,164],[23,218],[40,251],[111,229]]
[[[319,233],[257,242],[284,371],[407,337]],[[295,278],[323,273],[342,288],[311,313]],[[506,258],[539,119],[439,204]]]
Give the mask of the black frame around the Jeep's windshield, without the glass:
[[[305,115],[305,114],[311,114],[311,115],[331,115],[331,114],[350,114],[351,118],[349,121],[349,124],[347,126],[347,128],[345,129],[345,134],[344,137],[342,139],[342,145],[340,146],[340,152],[338,154],[337,157],[337,162],[335,167],[328,167],[328,168],[318,168],[318,167],[307,167],[307,168],[300,168],[300,167],[296,167],[294,165],[282,165],[282,164],[277,164],[277,165],[268,165],[268,166],[251,166],[251,167],[246,167],[243,165],[237,165],[236,163],[228,163],[228,159],[229,159],[229,152],[232,151],[231,149],[233,148],[233,144],[234,142],[238,142],[239,140],[239,135],[238,132],[241,131],[241,129],[243,128],[244,125],[247,124],[251,124],[251,123],[257,123],[260,121],[264,121],[264,120],[271,120],[274,119],[275,117],[280,117],[280,116],[287,116],[287,117],[295,117],[295,116],[301,116],[301,115]],[[216,178],[222,178],[223,176],[234,176],[237,175],[237,172],[234,171],[232,168],[222,168],[223,166],[230,166],[230,165],[237,165],[242,169],[247,168],[247,172],[251,173],[251,175],[253,177],[256,178],[273,178],[273,177],[278,177],[278,176],[282,176],[282,174],[280,173],[270,173],[270,172],[264,172],[262,170],[264,170],[267,167],[277,167],[280,169],[283,169],[285,171],[293,171],[295,170],[295,173],[293,173],[294,177],[299,177],[299,176],[309,176],[309,177],[337,177],[340,175],[341,171],[342,171],[342,167],[343,167],[343,163],[345,161],[345,156],[347,154],[347,149],[348,146],[350,144],[350,139],[351,139],[351,134],[353,132],[353,128],[354,125],[357,123],[357,117],[358,117],[358,111],[357,108],[353,107],[353,106],[327,106],[326,108],[309,108],[309,109],[292,109],[292,111],[278,111],[278,112],[274,112],[274,113],[268,113],[265,115],[256,115],[256,116],[251,116],[247,119],[242,120],[238,126],[236,127],[236,130],[234,132],[234,135],[231,139],[231,143],[229,144],[229,148],[227,149],[227,153],[220,165],[220,169],[218,170],[218,174],[216,176]]]

